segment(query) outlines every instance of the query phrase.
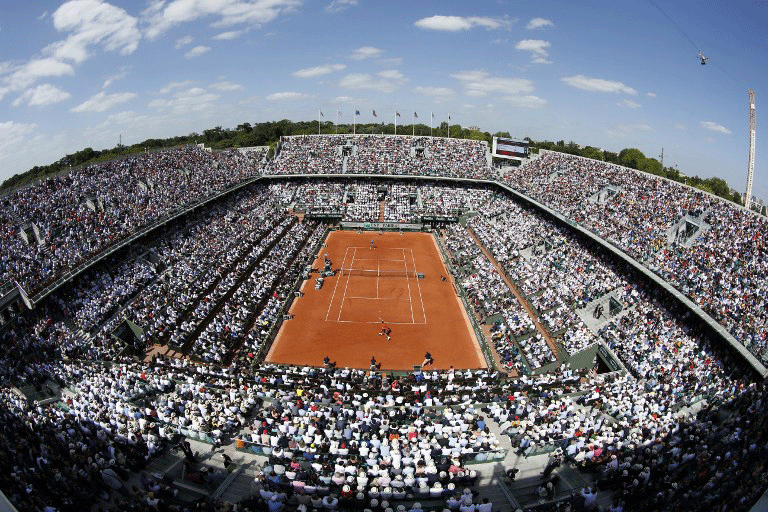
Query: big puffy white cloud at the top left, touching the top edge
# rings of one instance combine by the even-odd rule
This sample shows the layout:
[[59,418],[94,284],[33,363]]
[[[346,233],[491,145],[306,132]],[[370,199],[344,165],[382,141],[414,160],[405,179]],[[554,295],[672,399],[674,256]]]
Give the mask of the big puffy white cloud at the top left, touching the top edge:
[[101,0],[71,0],[52,15],[53,26],[69,35],[47,46],[43,52],[56,59],[81,63],[89,57],[91,46],[130,55],[141,40],[138,20],[124,9]]

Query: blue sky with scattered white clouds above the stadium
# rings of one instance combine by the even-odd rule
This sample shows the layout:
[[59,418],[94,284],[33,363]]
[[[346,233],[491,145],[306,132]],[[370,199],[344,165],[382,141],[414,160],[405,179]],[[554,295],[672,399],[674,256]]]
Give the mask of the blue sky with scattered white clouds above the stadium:
[[766,1],[3,0],[0,180],[120,134],[318,109],[367,122],[375,109],[648,156],[663,146],[665,164],[743,191],[752,87],[755,193],[768,199],[766,27]]

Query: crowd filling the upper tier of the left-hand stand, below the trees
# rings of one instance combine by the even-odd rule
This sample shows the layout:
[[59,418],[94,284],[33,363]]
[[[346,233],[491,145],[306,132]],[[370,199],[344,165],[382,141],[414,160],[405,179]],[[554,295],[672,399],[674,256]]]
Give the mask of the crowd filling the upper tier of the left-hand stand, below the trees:
[[[185,146],[89,165],[16,190],[0,203],[0,281],[15,279],[31,294],[140,227],[257,176],[265,156]],[[22,231],[34,236],[25,242]]]

